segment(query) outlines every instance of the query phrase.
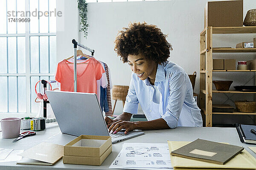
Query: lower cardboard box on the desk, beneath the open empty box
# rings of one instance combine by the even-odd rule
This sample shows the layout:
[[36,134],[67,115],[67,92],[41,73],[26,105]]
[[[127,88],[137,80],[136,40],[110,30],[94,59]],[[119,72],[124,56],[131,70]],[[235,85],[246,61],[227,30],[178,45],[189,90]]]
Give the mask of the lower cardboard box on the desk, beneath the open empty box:
[[112,145],[100,157],[63,156],[64,164],[101,165],[112,151]]

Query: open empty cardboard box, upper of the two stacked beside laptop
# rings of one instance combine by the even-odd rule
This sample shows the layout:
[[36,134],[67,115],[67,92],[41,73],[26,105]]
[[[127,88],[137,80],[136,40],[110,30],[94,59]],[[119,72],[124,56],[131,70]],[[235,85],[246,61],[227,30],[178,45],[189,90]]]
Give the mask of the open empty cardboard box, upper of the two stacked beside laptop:
[[110,146],[111,136],[81,135],[64,146],[64,156],[100,157]]

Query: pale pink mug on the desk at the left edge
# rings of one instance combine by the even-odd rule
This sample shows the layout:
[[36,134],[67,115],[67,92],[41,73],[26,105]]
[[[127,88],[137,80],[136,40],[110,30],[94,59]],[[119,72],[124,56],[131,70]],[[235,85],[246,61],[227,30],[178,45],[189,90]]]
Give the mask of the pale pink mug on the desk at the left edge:
[[20,118],[1,119],[2,138],[17,138],[20,135]]

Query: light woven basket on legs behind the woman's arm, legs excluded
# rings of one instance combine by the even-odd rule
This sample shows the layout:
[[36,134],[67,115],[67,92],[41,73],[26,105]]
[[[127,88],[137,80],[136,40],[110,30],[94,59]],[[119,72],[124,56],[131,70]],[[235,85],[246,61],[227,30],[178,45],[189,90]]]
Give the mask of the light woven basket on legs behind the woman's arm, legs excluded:
[[128,94],[129,86],[127,85],[113,85],[112,99],[113,100],[125,100]]

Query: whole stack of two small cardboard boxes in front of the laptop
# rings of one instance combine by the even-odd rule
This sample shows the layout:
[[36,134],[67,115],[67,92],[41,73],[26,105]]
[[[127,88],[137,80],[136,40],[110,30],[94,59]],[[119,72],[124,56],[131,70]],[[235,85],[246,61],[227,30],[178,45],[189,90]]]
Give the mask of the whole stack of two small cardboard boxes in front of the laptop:
[[110,136],[81,135],[64,146],[64,164],[101,165],[112,151]]

